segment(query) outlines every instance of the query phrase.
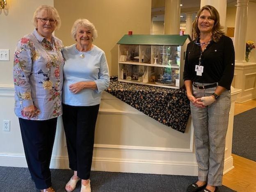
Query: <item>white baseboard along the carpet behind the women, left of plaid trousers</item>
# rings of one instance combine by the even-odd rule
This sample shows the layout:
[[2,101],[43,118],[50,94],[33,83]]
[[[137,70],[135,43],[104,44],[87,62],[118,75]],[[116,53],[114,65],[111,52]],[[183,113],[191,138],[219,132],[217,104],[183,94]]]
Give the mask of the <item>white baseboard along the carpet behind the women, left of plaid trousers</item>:
[[[3,167],[27,167],[23,154],[0,154]],[[67,157],[52,157],[50,168],[69,169]],[[197,176],[196,162],[93,158],[91,170],[143,174]]]

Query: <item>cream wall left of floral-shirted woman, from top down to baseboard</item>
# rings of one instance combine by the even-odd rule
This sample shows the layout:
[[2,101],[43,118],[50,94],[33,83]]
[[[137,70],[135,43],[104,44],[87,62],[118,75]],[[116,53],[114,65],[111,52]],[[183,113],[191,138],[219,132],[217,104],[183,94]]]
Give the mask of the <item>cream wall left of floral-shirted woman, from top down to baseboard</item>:
[[[18,118],[13,112],[13,55],[18,40],[34,30],[31,21],[35,9],[46,4],[53,6],[53,0],[7,0],[7,9],[0,10],[0,49],[10,50],[10,61],[0,61],[0,154],[24,153]],[[3,120],[10,120],[11,132],[2,131]]]

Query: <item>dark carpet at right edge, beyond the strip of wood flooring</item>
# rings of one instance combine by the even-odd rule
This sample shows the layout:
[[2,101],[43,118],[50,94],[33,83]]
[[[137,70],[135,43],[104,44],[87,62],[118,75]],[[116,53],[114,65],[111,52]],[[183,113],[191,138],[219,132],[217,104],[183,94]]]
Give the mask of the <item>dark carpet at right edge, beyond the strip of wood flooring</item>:
[[232,153],[256,161],[256,108],[235,115]]

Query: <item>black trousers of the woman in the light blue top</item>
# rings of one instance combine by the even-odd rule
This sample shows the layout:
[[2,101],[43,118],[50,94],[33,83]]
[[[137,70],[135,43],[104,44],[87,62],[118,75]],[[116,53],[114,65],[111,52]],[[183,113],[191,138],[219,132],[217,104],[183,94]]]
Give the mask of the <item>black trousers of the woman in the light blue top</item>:
[[78,171],[79,178],[89,179],[99,105],[76,107],[62,104],[62,106],[69,167]]

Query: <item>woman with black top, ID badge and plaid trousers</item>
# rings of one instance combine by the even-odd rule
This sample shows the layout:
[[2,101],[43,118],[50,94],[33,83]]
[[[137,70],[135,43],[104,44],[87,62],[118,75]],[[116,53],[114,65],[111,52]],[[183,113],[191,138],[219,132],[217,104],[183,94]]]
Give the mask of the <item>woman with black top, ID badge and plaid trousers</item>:
[[199,10],[193,29],[195,40],[187,45],[184,84],[194,126],[198,181],[187,192],[215,192],[222,185],[235,53],[213,6]]

